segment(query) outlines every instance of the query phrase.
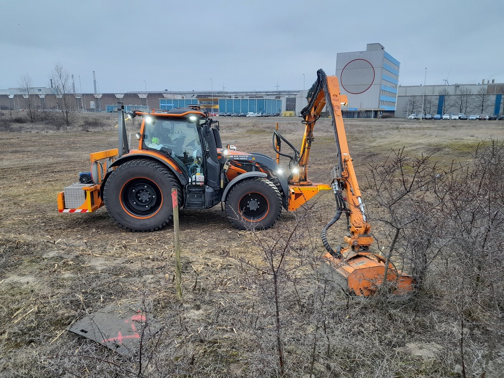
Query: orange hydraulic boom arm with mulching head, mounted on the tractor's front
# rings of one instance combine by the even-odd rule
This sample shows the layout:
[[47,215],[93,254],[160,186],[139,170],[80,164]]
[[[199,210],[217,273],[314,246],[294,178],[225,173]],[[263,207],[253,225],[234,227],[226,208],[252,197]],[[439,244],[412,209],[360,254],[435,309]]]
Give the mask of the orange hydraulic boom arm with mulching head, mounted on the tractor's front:
[[[322,241],[327,249],[324,256],[326,271],[345,291],[354,295],[372,295],[387,281],[392,292],[404,293],[413,290],[413,279],[401,275],[392,262],[370,252],[373,242],[371,227],[367,223],[353,161],[348,150],[341,106],[347,104],[346,95],[340,94],[338,78],[317,72],[317,81],[308,92],[308,104],[301,110],[305,131],[297,158],[298,174],[293,174],[292,185],[309,185],[307,166],[313,141],[313,128],[326,107],[336,141],[336,165],[332,170],[331,186],[336,199],[336,214],[322,231]],[[348,234],[346,245],[334,250],[327,240],[327,230],[342,214],[346,215]]]

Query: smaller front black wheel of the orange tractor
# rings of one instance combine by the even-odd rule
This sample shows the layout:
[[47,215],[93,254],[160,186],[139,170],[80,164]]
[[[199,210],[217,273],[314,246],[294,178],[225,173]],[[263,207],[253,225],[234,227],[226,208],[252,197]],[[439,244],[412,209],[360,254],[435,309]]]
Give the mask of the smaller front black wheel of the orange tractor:
[[262,177],[236,183],[226,198],[226,215],[240,230],[272,227],[282,212],[282,198],[275,184]]

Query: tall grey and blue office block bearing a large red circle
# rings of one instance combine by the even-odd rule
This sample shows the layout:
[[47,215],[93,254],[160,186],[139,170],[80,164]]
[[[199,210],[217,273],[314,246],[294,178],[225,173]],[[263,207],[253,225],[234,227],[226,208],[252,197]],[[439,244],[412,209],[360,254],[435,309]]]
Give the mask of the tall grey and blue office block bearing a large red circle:
[[400,62],[380,43],[368,43],[365,51],[339,52],[336,76],[348,106],[349,118],[393,117],[396,111]]

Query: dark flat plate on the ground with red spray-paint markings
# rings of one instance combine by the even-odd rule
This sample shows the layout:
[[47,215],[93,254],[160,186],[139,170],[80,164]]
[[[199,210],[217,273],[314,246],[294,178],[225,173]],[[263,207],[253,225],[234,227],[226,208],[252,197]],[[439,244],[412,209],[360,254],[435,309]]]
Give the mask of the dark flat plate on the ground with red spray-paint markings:
[[129,355],[138,351],[141,338],[145,342],[160,329],[161,324],[144,312],[106,306],[75,322],[68,330]]

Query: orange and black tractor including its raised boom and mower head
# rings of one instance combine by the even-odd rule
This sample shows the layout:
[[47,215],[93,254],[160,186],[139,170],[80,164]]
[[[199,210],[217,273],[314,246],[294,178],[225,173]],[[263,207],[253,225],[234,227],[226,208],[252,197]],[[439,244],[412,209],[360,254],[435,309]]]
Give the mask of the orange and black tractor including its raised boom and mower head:
[[[340,286],[354,295],[371,295],[384,280],[393,291],[409,292],[413,280],[401,275],[390,262],[370,252],[373,239],[366,222],[359,186],[348,151],[338,79],[317,72],[318,79],[301,110],[304,135],[297,150],[278,130],[273,133],[276,159],[261,153],[223,147],[219,122],[197,105],[168,111],[124,112],[117,106],[118,149],[90,154],[91,177],[70,185],[58,194],[59,212],[92,212],[105,205],[110,217],[130,231],[155,231],[171,221],[171,190],[177,188],[178,203],[185,209],[209,209],[224,203],[226,215],[238,229],[272,227],[282,210],[293,211],[321,190],[335,194],[337,212],[322,231],[328,253],[328,272]],[[336,139],[337,164],[331,184],[313,183],[307,167],[313,128],[323,109],[331,116]],[[138,146],[130,149],[125,120],[142,117]],[[291,153],[282,151],[285,142]],[[280,156],[288,157],[284,170]],[[345,213],[349,233],[347,246],[331,248],[328,228]],[[386,277],[386,278],[385,278]]]

